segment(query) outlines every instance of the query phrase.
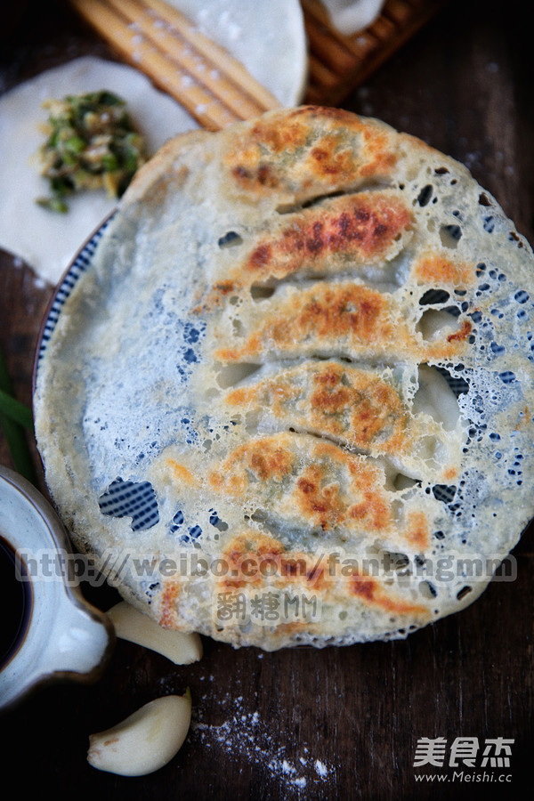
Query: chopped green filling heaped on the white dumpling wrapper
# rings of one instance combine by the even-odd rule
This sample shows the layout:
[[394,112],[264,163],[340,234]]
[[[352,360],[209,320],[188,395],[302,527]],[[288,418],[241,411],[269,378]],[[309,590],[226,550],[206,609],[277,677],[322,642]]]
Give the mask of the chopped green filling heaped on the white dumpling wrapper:
[[105,189],[110,198],[119,198],[148,158],[125,101],[101,90],[50,99],[43,106],[48,138],[37,156],[52,196],[37,203],[65,212],[66,198],[85,189]]

